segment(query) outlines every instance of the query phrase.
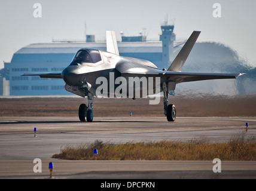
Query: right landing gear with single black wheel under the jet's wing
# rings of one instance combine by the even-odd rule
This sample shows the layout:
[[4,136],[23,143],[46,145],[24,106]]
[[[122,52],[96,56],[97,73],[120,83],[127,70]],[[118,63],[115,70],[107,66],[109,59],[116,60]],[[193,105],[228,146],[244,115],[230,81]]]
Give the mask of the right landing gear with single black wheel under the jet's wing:
[[167,92],[166,82],[163,83],[163,104],[164,104],[164,115],[166,115],[167,121],[175,121],[176,107],[173,104],[168,105],[168,92]]

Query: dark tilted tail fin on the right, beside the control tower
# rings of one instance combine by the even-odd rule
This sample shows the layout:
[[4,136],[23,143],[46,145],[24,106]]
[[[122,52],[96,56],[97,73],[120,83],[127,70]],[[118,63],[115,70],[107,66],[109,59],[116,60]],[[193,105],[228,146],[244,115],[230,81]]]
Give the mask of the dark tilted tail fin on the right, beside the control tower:
[[194,31],[191,34],[190,38],[188,38],[185,45],[181,48],[181,51],[179,51],[179,54],[173,60],[172,64],[170,64],[168,71],[181,71],[181,68],[184,65],[185,61],[187,60],[187,57],[190,54],[192,48],[194,47],[194,44],[196,43],[196,40],[199,35],[200,31]]

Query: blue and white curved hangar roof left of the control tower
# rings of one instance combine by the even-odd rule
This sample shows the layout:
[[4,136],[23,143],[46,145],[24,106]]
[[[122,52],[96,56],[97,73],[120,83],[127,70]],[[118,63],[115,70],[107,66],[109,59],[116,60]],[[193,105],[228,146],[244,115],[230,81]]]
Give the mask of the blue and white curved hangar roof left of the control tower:
[[[96,48],[106,51],[106,42],[51,42],[30,44],[14,53],[14,62],[66,62],[71,61],[81,48]],[[161,41],[118,42],[120,55],[126,53],[162,53]]]

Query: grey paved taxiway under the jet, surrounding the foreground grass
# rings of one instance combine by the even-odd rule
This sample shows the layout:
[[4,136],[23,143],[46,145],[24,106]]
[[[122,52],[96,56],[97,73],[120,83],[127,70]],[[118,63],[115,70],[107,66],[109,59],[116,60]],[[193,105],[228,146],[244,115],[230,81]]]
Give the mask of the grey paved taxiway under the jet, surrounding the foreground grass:
[[[215,174],[212,161],[66,161],[52,159],[66,145],[95,140],[126,143],[136,141],[189,141],[206,138],[230,141],[249,130],[256,136],[255,118],[95,118],[79,122],[66,117],[1,117],[0,178],[47,178],[48,162],[54,162],[56,178],[256,178],[256,162],[222,161]],[[33,128],[37,128],[36,138]],[[42,160],[42,172],[33,172],[33,159]]]

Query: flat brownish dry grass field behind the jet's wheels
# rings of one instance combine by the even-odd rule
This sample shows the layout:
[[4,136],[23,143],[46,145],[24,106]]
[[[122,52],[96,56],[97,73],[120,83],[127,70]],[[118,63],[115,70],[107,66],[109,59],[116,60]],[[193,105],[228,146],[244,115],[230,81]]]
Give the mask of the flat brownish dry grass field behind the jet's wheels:
[[[77,116],[81,97],[0,98],[0,116]],[[256,96],[225,97],[172,96],[169,103],[177,109],[177,116],[256,116]],[[164,116],[162,100],[150,105],[146,98],[95,98],[94,116]]]

